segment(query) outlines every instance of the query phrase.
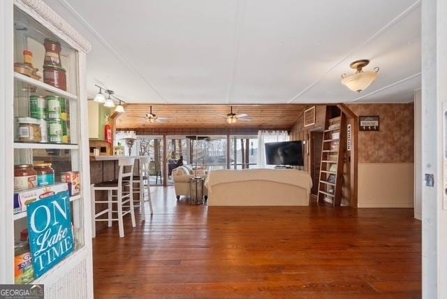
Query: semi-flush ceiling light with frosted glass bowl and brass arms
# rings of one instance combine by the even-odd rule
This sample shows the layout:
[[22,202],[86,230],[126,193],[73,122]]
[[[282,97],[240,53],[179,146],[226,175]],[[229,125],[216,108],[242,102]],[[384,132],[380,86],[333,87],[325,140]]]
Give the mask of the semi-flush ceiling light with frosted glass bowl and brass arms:
[[365,90],[371,83],[376,80],[377,73],[379,72],[379,68],[373,68],[373,71],[364,72],[362,68],[369,64],[369,60],[361,59],[353,61],[349,66],[356,70],[356,73],[352,75],[342,75],[342,84],[351,89],[354,92],[362,92]]

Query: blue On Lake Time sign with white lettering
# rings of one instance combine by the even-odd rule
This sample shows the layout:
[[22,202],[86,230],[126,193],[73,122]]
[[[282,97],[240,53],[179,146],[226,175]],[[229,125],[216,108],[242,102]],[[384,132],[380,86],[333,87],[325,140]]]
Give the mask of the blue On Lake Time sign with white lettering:
[[34,276],[40,277],[73,252],[71,205],[68,191],[27,206],[29,247]]

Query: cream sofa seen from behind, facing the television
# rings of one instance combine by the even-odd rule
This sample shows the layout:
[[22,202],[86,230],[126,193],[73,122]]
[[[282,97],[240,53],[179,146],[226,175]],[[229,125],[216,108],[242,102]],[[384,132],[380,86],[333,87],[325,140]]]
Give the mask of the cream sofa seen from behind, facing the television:
[[212,170],[208,205],[309,205],[312,178],[301,170]]

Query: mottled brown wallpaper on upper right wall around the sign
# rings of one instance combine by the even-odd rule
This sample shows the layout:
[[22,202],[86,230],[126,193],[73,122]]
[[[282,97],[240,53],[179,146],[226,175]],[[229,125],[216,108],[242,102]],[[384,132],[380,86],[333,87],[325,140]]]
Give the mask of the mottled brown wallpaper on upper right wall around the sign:
[[413,103],[349,104],[348,107],[358,116],[380,117],[380,131],[358,131],[359,163],[413,162]]

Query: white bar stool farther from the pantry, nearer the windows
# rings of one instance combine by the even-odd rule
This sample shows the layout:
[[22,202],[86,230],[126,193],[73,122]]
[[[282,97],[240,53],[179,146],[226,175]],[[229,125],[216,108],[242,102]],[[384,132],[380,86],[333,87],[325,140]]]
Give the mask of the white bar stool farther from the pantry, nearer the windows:
[[[133,200],[134,207],[140,207],[141,219],[146,220],[145,214],[145,187],[147,187],[147,198],[149,201],[149,210],[151,214],[154,214],[152,209],[151,190],[149,188],[149,157],[140,156],[140,173],[139,175],[133,175],[133,193],[138,192],[140,194],[140,200]],[[147,181],[147,184],[145,184]]]

